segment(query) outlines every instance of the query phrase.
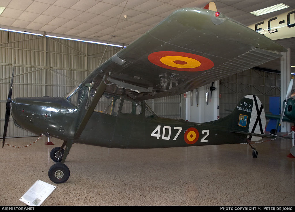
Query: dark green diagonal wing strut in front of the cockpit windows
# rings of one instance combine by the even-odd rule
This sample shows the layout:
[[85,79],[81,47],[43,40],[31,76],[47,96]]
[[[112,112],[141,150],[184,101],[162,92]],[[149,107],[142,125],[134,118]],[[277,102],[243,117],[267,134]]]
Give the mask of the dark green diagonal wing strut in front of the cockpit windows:
[[102,94],[104,93],[104,90],[106,89],[106,85],[107,83],[104,83],[104,78],[101,80],[95,94],[94,97],[86,111],[86,114],[83,117],[83,120],[80,122],[79,127],[74,135],[74,139],[79,139],[81,133],[83,132],[87,122],[89,121],[98,101],[100,100]]

